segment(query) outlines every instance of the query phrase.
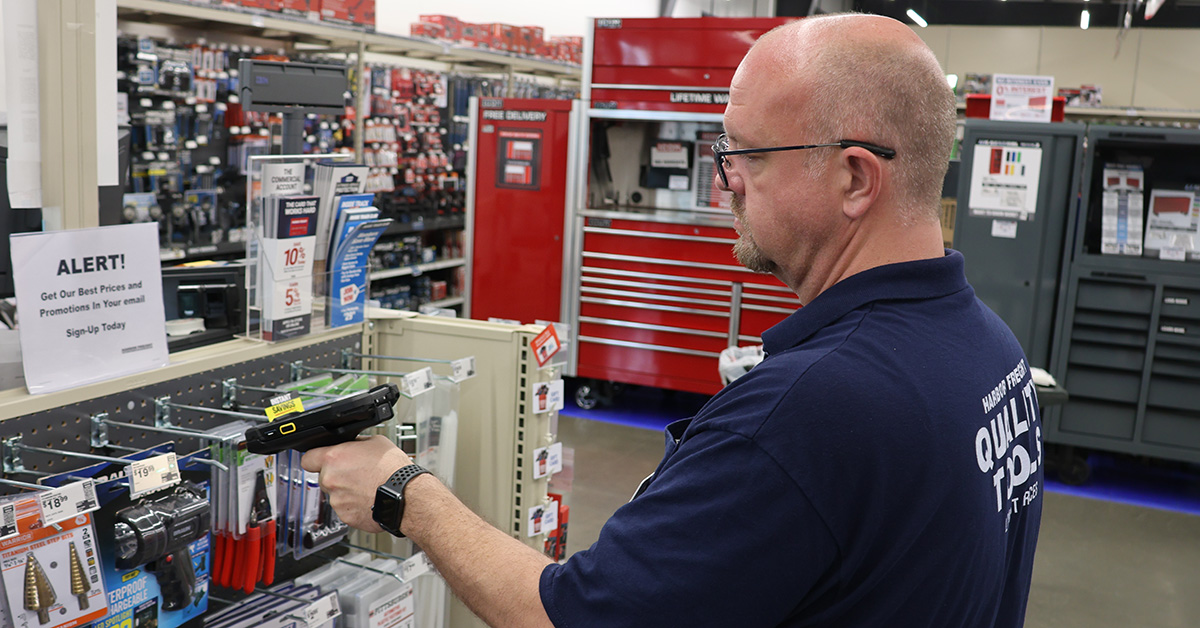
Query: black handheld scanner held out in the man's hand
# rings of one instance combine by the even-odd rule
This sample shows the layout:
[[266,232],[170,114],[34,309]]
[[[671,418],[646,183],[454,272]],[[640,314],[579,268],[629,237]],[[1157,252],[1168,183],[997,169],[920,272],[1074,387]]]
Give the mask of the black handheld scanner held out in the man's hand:
[[359,432],[392,418],[400,399],[396,384],[335,400],[324,406],[289,414],[287,420],[246,430],[246,449],[253,454],[277,454],[286,449],[307,451],[355,439]]

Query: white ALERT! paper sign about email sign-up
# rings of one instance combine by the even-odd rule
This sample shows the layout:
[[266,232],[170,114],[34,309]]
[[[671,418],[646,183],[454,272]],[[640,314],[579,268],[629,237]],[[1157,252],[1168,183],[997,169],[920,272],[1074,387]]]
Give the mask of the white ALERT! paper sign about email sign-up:
[[155,223],[29,233],[11,243],[31,394],[167,365]]

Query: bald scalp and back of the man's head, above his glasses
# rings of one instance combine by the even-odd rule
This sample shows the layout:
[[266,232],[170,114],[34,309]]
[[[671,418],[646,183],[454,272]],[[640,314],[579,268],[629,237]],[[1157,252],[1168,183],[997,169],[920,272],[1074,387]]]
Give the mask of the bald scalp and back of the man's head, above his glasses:
[[731,89],[766,90],[764,101],[782,118],[778,124],[793,125],[803,142],[894,148],[904,216],[937,220],[954,143],[954,94],[934,53],[900,22],[834,14],[780,26],[746,54]]

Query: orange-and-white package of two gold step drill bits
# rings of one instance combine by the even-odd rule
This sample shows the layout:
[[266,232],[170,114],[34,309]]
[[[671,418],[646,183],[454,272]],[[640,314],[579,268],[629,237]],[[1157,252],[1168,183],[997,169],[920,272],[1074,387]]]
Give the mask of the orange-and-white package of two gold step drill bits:
[[0,503],[0,581],[13,628],[72,628],[102,618],[108,597],[97,561],[96,528],[82,514],[42,525],[36,496]]

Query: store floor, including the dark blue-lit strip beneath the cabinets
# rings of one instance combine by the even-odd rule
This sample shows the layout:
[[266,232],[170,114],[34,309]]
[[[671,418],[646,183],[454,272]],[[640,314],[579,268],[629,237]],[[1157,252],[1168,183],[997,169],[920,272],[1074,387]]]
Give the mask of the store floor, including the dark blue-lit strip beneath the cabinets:
[[[661,425],[702,397],[648,389],[612,407],[559,417],[574,469],[568,551],[588,548],[662,455]],[[583,418],[587,417],[587,418]],[[1200,626],[1200,473],[1093,462],[1084,488],[1048,482],[1026,618],[1028,628]]]

